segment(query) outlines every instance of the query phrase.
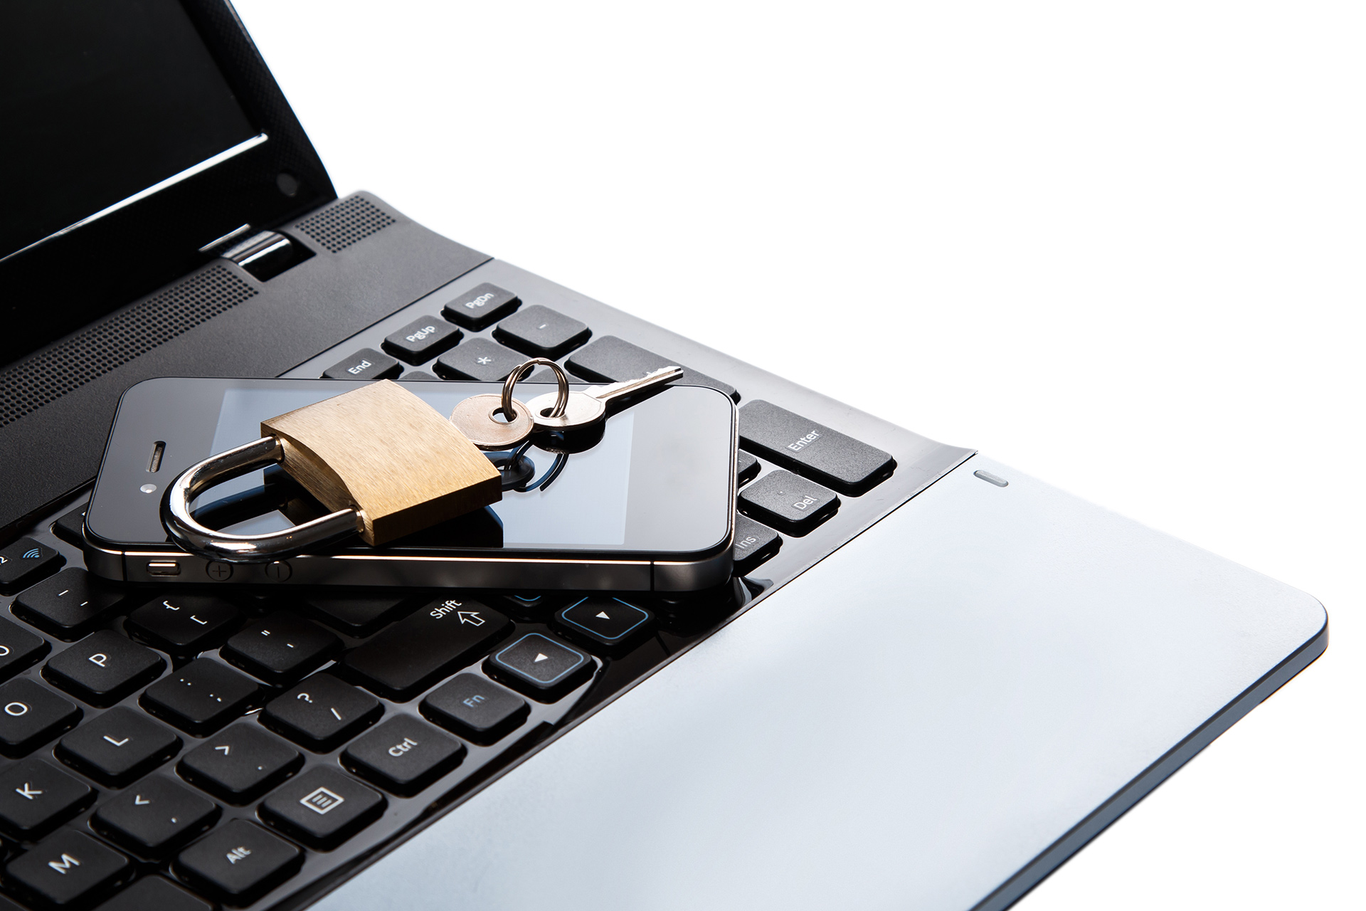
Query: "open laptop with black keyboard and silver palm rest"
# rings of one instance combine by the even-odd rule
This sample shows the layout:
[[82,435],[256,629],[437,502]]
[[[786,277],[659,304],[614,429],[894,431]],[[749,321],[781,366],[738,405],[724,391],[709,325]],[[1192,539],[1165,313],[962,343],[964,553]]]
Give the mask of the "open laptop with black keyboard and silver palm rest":
[[[23,570],[0,595],[0,907],[1004,908],[1326,647],[1322,608],[1288,586],[441,238],[377,195],[336,198],[225,3],[3,15],[22,20],[0,34],[25,36],[5,55],[0,104],[22,141],[4,164],[27,179],[0,220],[0,556]],[[486,287],[499,309],[456,322]],[[333,665],[268,679],[228,639],[287,609],[358,649],[430,593],[206,576],[204,597],[232,613],[195,657],[258,686],[239,717],[189,731],[148,713],[146,688],[186,660],[156,647],[156,680],[112,705],[83,698],[70,656],[104,654],[85,654],[90,636],[149,647],[124,617],[161,591],[124,582],[79,638],[36,612],[59,576],[89,580],[83,507],[124,389],[493,381],[529,354],[515,318],[533,307],[583,326],[550,348],[576,380],[678,363],[738,402],[729,582],[622,593],[652,624],[628,651],[564,623],[574,593],[470,591],[601,669],[548,701],[488,680],[485,654],[407,699],[329,677],[378,712],[324,744],[262,718]],[[441,354],[387,343],[417,320],[463,335]],[[784,520],[765,505],[773,478],[836,508]],[[492,724],[434,707],[471,683],[503,706]],[[167,743],[131,780],[81,751],[120,714]],[[55,720],[25,727],[40,717]],[[460,762],[413,788],[346,758],[393,720],[456,743]],[[295,794],[320,776],[331,784]],[[347,824],[310,835],[272,810],[281,798]],[[152,825],[149,807],[172,811]]]

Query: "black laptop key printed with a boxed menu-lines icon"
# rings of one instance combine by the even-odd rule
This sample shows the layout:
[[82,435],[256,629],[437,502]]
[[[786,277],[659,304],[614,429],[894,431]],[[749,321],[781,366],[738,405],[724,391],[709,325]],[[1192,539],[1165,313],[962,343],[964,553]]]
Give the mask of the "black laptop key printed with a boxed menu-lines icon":
[[318,766],[261,804],[261,818],[311,848],[335,848],[370,825],[388,802],[355,779]]

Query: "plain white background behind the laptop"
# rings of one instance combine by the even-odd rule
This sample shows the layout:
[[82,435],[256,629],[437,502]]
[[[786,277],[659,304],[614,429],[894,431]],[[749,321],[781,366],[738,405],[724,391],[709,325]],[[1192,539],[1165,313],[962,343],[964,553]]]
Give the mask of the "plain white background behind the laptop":
[[1318,597],[1019,907],[1361,907],[1359,4],[238,5],[339,193]]

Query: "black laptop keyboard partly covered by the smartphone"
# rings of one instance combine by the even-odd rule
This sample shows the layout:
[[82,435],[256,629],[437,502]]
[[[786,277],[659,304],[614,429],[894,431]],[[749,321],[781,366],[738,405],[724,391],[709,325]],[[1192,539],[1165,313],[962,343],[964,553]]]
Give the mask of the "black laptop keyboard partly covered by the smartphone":
[[[534,287],[448,288],[287,376],[676,362]],[[680,366],[743,403],[736,575],[712,591],[120,586],[83,568],[83,501],[0,550],[0,911],[306,904],[919,489],[873,503],[891,453]]]

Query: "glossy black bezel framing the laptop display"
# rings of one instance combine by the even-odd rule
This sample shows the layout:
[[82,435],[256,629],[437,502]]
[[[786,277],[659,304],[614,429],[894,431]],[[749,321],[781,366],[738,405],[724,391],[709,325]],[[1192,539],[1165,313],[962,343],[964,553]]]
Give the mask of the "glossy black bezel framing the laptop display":
[[180,5],[266,141],[0,262],[0,365],[195,269],[213,255],[201,247],[240,225],[272,228],[336,199],[231,3]]

